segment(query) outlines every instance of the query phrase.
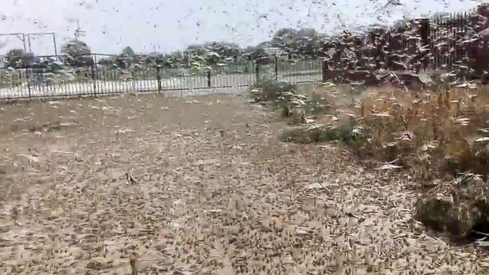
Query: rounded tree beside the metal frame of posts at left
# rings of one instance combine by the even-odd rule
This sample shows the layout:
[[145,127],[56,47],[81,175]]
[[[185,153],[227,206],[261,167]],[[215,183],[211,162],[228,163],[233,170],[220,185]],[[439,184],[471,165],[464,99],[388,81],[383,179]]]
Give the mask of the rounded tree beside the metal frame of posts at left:
[[68,41],[61,48],[63,62],[73,67],[88,67],[93,65],[93,58],[90,55],[88,45],[78,39]]

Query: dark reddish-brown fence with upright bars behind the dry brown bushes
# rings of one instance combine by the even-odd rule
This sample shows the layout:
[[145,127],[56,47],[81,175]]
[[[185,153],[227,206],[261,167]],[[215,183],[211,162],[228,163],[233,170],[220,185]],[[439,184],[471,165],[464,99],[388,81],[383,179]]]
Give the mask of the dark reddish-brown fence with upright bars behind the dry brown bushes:
[[477,75],[489,69],[489,33],[485,31],[489,25],[482,11],[478,12],[414,19],[363,36],[343,36],[326,43],[324,51],[330,56],[329,66],[337,69],[420,72],[469,68]]

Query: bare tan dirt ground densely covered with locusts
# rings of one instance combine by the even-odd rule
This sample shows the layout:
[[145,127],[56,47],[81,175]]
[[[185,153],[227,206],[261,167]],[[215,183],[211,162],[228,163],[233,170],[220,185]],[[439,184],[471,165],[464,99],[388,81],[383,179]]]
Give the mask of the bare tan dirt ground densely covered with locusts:
[[407,175],[280,143],[272,117],[239,96],[1,105],[0,274],[487,274],[412,220]]

